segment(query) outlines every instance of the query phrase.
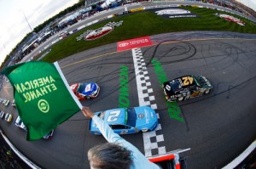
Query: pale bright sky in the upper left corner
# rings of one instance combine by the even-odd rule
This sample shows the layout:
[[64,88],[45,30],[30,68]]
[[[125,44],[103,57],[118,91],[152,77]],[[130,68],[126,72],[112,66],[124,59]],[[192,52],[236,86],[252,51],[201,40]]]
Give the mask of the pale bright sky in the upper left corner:
[[78,2],[79,0],[0,0],[0,65],[33,28]]

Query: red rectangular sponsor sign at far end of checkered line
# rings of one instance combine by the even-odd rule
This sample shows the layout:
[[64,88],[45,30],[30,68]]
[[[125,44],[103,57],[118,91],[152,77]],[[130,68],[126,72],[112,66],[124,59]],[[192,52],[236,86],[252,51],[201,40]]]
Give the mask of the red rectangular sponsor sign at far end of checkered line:
[[141,48],[141,47],[151,46],[152,44],[153,43],[151,42],[150,37],[138,37],[138,38],[118,42],[117,51],[128,50],[131,48]]

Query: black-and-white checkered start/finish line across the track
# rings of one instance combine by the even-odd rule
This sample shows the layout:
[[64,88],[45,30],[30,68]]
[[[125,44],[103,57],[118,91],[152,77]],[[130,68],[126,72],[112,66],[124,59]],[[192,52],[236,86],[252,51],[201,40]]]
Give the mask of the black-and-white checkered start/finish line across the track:
[[[157,105],[155,103],[153,88],[151,87],[151,82],[149,81],[148,70],[143,58],[142,50],[140,48],[133,48],[131,51],[136,74],[139,105],[148,105],[152,109],[156,110]],[[160,116],[158,113],[157,116],[159,119]],[[162,132],[156,132],[161,131],[161,129],[162,128],[159,123],[155,131],[143,132],[143,143],[146,157],[166,154],[166,146],[160,145],[162,142],[164,142],[164,135]]]

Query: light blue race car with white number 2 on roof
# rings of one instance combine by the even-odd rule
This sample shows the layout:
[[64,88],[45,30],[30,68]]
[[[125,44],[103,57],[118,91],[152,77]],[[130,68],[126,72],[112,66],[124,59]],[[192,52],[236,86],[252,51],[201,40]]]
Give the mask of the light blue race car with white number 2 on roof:
[[[96,115],[106,121],[113,132],[119,134],[153,131],[158,125],[155,111],[148,106],[100,111]],[[92,120],[89,129],[91,134],[102,134]]]

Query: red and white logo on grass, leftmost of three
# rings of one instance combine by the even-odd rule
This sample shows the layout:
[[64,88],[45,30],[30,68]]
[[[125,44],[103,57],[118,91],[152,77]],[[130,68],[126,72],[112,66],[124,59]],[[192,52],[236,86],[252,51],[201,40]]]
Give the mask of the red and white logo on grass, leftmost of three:
[[113,31],[115,26],[119,26],[123,24],[123,20],[119,22],[108,22],[108,24],[100,27],[96,30],[87,30],[84,31],[79,37],[76,37],[77,41],[84,39],[84,41],[96,40],[97,38],[103,37]]

